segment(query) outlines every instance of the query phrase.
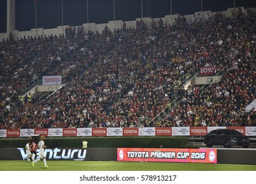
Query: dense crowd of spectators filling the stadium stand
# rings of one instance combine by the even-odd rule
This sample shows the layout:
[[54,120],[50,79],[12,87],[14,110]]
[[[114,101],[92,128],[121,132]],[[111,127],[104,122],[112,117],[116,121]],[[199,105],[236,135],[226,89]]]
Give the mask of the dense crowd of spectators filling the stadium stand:
[[[0,43],[0,129],[149,126],[177,97],[150,126],[256,126],[256,110],[244,110],[256,95],[256,19],[245,10],[192,22],[178,16],[173,25],[152,19],[150,28],[141,19],[101,34],[79,26],[59,36],[10,36]],[[185,90],[186,74],[201,66],[229,69],[203,93]],[[12,108],[28,81],[54,75],[68,78],[62,89]]]

